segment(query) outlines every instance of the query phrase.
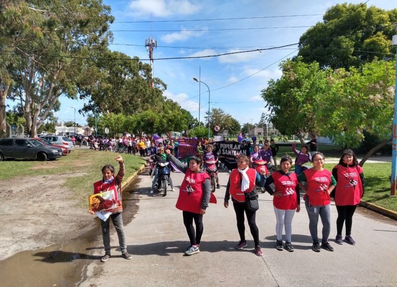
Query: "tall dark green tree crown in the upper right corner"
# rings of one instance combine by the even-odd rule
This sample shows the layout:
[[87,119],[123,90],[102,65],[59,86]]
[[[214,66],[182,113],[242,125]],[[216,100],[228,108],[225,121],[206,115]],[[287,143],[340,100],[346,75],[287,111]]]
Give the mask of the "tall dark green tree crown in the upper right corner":
[[317,61],[322,68],[358,67],[383,58],[382,53],[394,53],[390,40],[394,25],[390,24],[396,22],[397,9],[336,4],[327,9],[322,22],[300,37],[298,56],[306,63]]

